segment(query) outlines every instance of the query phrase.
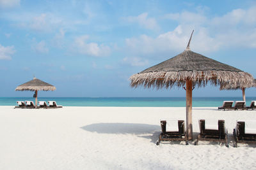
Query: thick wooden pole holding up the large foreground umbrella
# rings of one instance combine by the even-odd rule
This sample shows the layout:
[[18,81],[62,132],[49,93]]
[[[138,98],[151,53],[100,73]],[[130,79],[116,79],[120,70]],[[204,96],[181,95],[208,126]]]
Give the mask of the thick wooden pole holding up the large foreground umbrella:
[[186,80],[186,125],[187,125],[187,138],[193,140],[193,127],[192,127],[192,81]]

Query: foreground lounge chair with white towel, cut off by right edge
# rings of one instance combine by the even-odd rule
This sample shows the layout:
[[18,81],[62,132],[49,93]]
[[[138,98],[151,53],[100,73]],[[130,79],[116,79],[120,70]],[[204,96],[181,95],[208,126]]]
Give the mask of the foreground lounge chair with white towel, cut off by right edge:
[[256,120],[237,120],[233,135],[235,147],[237,143],[256,143]]

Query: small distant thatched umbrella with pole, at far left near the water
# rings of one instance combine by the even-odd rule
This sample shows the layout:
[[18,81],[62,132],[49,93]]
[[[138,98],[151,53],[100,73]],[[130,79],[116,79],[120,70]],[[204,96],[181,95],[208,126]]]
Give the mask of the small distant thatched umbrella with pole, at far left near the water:
[[35,91],[35,105],[37,107],[37,91],[39,90],[44,90],[44,91],[54,91],[56,90],[56,87],[54,87],[53,85],[49,84],[49,83],[45,83],[42,80],[39,80],[37,78],[33,78],[33,80],[28,81],[22,85],[19,85],[18,87],[16,87],[15,90],[20,90],[20,91],[24,91],[24,90],[29,90],[29,91]]

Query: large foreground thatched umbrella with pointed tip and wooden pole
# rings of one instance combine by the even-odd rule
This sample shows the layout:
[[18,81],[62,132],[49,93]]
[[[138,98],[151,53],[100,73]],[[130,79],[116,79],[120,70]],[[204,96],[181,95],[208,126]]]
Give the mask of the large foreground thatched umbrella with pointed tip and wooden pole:
[[[193,34],[193,32],[192,32]],[[192,37],[191,34],[191,37]],[[189,39],[189,43],[191,41]],[[252,83],[253,76],[227,64],[223,64],[204,55],[192,52],[189,48],[171,59],[165,60],[156,66],[149,67],[130,77],[131,87],[143,85],[145,88],[165,87],[173,85],[182,87],[186,84],[186,126],[188,139],[193,139],[192,128],[192,88],[205,86],[208,81],[213,85],[223,83]]]

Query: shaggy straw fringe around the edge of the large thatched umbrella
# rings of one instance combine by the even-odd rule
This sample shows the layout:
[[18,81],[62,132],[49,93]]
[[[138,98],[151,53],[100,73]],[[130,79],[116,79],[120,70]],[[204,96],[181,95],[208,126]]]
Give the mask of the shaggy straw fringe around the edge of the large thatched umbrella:
[[133,74],[130,77],[131,87],[140,85],[145,88],[156,87],[172,88],[173,85],[182,87],[186,80],[192,80],[193,85],[204,87],[210,82],[212,85],[226,85],[234,83],[236,85],[250,86],[253,83],[253,76],[246,72],[237,71],[160,71],[150,73]]

